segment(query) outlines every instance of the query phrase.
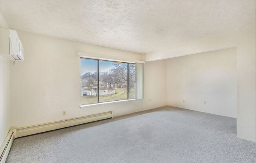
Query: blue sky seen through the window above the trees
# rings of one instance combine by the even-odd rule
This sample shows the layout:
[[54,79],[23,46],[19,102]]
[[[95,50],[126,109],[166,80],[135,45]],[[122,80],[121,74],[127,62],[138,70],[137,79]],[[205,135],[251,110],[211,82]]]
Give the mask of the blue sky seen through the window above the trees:
[[[97,72],[97,60],[81,59],[81,75],[86,72]],[[100,71],[109,71],[112,69],[112,62],[100,61]]]

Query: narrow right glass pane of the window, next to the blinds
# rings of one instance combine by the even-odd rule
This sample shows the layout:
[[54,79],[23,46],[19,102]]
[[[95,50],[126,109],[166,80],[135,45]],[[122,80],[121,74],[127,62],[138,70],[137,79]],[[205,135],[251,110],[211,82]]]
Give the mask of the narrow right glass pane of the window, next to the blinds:
[[129,63],[129,99],[135,98],[135,64]]

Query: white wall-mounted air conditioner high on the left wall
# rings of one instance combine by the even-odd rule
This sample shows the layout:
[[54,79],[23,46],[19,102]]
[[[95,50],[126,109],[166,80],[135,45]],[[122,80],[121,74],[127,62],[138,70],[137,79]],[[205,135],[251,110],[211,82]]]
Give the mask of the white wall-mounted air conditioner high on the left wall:
[[24,61],[24,49],[17,31],[0,28],[0,54],[8,60]]

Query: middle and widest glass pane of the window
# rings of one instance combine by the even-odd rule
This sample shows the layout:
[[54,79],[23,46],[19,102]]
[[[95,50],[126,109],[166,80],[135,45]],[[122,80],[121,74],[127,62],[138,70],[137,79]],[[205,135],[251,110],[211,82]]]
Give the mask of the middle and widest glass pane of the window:
[[100,61],[99,102],[127,99],[127,63]]

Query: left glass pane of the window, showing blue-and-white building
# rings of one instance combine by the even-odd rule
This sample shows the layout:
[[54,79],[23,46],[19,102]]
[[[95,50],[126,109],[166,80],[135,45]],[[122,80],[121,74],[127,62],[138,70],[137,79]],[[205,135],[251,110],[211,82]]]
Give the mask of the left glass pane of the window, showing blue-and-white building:
[[98,61],[81,58],[81,105],[97,103]]

